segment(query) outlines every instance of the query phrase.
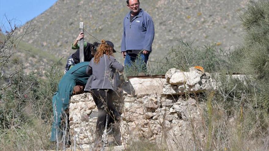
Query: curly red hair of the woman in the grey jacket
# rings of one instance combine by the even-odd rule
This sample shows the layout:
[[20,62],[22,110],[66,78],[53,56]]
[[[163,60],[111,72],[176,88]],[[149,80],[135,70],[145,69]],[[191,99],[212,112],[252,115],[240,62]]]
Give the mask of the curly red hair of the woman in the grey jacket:
[[102,57],[104,54],[108,56],[114,56],[113,55],[113,47],[108,45],[104,39],[101,40],[101,44],[97,48],[97,52],[94,55],[94,63],[98,64],[100,61],[100,57]]

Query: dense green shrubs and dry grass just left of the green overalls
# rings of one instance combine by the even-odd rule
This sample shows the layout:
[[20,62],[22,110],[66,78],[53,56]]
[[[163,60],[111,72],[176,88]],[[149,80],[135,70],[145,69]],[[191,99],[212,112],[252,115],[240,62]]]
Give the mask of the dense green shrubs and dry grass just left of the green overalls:
[[20,66],[11,86],[2,92],[0,143],[5,147],[0,150],[38,150],[50,145],[51,100],[62,74],[59,62],[29,74]]

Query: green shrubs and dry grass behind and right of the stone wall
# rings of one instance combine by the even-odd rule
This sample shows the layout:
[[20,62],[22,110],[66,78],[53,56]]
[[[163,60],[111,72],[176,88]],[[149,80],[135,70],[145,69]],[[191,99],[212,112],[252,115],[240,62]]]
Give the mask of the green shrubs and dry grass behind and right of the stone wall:
[[[269,3],[253,2],[240,15],[245,29],[244,45],[234,52],[217,50],[214,45],[193,47],[179,41],[178,48],[148,66],[147,74],[165,74],[169,68],[182,71],[202,66],[206,72],[219,72],[215,79],[219,87],[210,95],[199,97],[209,102],[201,121],[207,141],[201,143],[193,135],[196,146],[205,150],[267,150],[268,149],[268,58]],[[157,69],[156,69],[157,67]],[[249,74],[248,78],[233,79],[226,74]],[[209,99],[211,98],[211,99]],[[211,106],[211,107],[210,107]],[[196,133],[194,130],[193,134]],[[190,150],[190,149],[185,149]]]

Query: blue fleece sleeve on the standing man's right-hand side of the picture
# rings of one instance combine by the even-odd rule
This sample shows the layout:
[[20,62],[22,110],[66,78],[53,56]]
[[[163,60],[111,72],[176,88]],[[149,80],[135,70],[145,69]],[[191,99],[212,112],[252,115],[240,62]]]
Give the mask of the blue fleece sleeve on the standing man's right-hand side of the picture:
[[147,32],[145,36],[145,43],[144,43],[143,50],[151,51],[152,50],[151,46],[154,40],[155,31],[154,31],[154,23],[150,16],[146,18],[145,26],[146,26]]

